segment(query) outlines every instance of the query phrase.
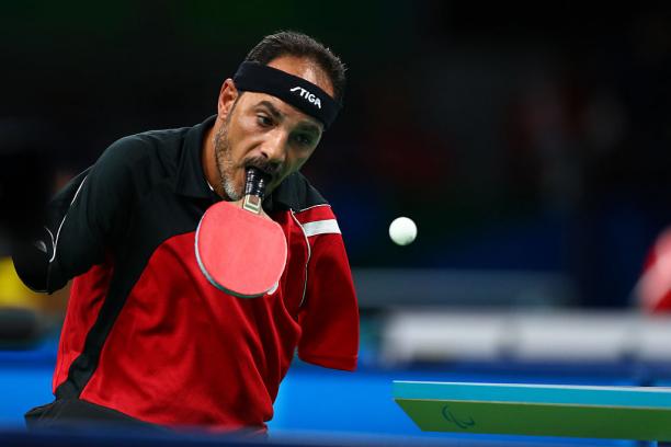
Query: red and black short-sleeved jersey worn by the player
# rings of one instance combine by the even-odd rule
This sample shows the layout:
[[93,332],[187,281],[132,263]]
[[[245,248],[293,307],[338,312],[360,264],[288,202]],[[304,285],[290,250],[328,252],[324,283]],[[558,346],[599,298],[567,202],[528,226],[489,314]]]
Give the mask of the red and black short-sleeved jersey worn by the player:
[[47,289],[75,277],[57,400],[169,426],[263,428],[296,351],[355,368],[359,312],[343,240],[299,173],[264,200],[288,247],[277,290],[240,299],[201,273],[195,229],[218,199],[201,165],[213,122],[126,137],[54,199]]

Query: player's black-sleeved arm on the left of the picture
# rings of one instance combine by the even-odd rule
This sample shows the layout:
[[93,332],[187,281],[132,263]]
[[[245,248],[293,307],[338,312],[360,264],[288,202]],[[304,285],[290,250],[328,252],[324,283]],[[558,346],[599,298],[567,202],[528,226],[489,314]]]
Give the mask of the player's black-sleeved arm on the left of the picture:
[[[31,277],[29,286],[48,293],[57,290],[70,278],[102,263],[105,254],[118,247],[136,202],[134,163],[140,160],[141,150],[133,138],[116,141],[93,167],[56,194],[47,208],[42,238],[46,249],[43,272],[26,274],[37,263],[21,265],[25,261],[22,263],[22,256],[14,255],[22,279]],[[34,247],[24,248],[24,253],[31,249],[34,251]]]

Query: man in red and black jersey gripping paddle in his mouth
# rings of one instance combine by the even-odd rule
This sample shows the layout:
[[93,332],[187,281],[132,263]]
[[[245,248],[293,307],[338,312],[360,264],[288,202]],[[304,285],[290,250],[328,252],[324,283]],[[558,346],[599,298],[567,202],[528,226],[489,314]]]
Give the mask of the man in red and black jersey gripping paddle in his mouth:
[[[56,400],[29,412],[29,425],[264,431],[296,349],[354,369],[359,313],[343,241],[298,172],[343,84],[342,64],[321,44],[266,36],[224,82],[216,116],[122,138],[53,199],[44,237],[14,255],[34,289],[75,278]],[[242,197],[249,167],[271,177],[263,206],[284,230],[288,259],[276,291],[239,299],[201,273],[194,234],[213,203]]]

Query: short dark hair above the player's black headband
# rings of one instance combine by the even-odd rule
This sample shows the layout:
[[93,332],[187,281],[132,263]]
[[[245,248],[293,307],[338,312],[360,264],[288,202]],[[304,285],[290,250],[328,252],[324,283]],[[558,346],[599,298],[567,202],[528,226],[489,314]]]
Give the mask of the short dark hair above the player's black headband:
[[268,65],[281,56],[305,57],[315,61],[331,80],[333,96],[342,102],[345,87],[345,66],[328,47],[312,37],[295,31],[268,35],[249,51],[244,61]]

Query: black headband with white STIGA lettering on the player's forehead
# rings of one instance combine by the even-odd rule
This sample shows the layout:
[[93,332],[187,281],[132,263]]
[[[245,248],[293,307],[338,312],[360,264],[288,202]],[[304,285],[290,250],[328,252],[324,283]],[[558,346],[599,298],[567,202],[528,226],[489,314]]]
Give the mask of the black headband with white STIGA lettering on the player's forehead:
[[297,76],[258,62],[242,62],[234,76],[238,90],[272,94],[319,119],[328,128],[342,105],[327,92]]

